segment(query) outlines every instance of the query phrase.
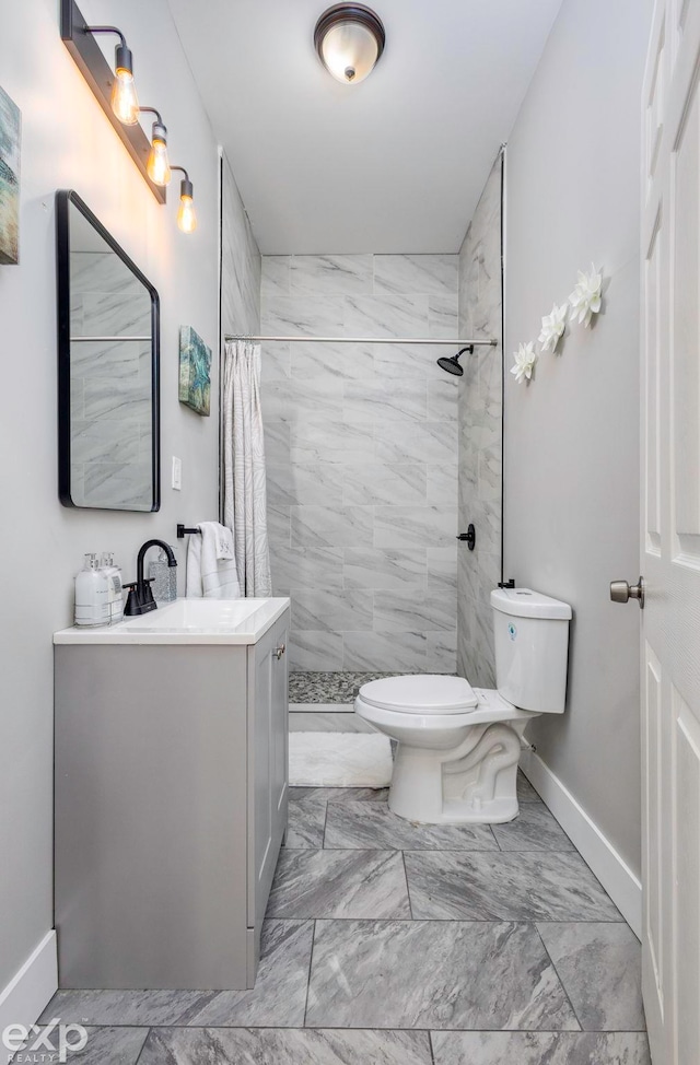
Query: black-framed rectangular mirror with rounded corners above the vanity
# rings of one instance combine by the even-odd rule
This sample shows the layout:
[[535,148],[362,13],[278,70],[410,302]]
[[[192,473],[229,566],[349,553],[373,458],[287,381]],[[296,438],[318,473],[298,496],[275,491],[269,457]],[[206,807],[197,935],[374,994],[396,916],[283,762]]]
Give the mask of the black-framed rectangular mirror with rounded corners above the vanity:
[[56,237],[60,501],[158,511],[158,292],[71,190]]

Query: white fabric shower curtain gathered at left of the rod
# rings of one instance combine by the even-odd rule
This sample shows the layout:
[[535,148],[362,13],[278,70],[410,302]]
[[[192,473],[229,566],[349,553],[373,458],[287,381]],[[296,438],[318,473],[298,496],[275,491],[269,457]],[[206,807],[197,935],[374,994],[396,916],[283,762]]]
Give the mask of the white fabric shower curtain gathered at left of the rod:
[[260,346],[229,341],[223,365],[223,522],[233,532],[245,596],[272,594],[267,539]]

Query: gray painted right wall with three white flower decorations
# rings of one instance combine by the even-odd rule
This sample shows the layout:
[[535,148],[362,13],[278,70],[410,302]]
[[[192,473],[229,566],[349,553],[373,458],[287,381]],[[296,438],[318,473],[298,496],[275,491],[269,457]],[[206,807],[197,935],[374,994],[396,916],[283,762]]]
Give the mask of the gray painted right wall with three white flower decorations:
[[641,80],[651,3],[564,0],[509,140],[505,351],[536,340],[576,270],[602,267],[603,314],[506,373],[505,569],[570,602],[569,699],[537,752],[640,868],[639,616],[608,582],[639,566]]

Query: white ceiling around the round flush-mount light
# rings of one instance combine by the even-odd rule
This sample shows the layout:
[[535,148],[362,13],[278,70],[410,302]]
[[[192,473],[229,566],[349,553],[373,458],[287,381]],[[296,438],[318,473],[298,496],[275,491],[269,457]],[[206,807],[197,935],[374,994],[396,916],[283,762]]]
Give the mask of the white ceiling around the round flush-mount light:
[[386,50],[341,85],[330,0],[168,0],[264,254],[457,251],[561,0],[372,0]]

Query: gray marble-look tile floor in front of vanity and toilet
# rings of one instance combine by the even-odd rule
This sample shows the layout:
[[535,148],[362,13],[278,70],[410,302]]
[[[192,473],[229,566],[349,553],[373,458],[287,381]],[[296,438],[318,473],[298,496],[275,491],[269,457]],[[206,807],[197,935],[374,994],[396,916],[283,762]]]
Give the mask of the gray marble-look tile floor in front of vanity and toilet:
[[462,828],[292,788],[253,991],[59,992],[43,1020],[88,1026],[80,1065],[651,1065],[639,943],[518,796]]

